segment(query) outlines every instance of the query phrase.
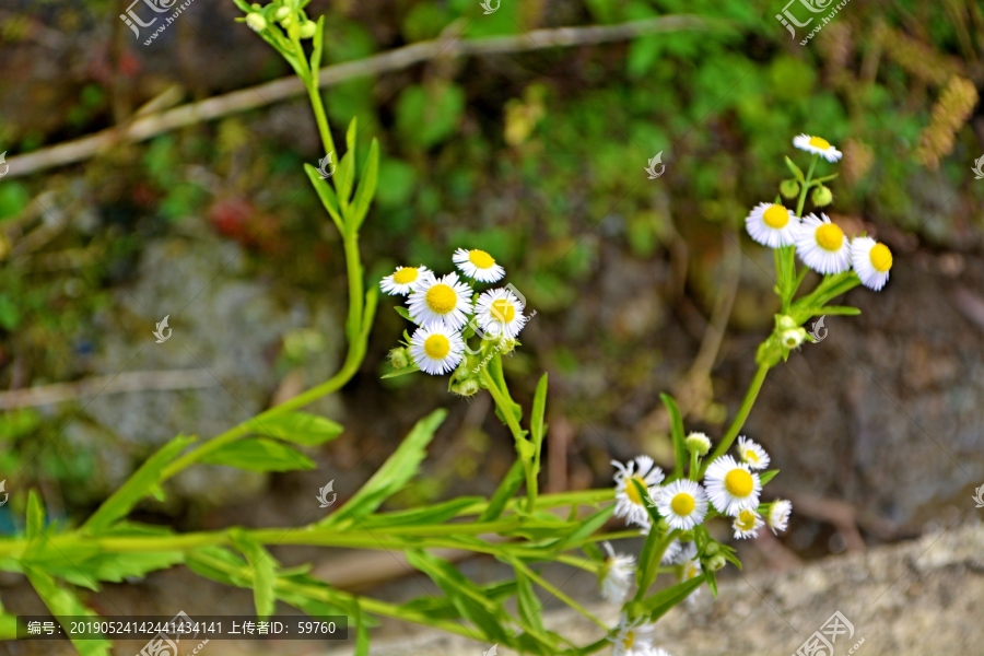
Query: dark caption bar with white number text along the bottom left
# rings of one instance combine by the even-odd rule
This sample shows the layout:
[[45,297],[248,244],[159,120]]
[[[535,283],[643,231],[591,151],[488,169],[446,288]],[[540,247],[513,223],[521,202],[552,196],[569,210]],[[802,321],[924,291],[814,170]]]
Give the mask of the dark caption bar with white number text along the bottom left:
[[[348,640],[345,616],[17,616],[17,640]],[[168,644],[169,643],[169,644]],[[155,653],[156,652],[152,652]]]

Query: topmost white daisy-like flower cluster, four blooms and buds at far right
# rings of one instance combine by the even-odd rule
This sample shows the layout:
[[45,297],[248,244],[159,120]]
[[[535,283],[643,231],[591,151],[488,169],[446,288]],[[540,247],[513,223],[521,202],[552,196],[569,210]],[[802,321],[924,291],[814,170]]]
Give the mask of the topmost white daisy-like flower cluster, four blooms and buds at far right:
[[[841,152],[819,137],[800,134],[794,145],[829,162],[841,159]],[[795,180],[787,180],[798,191]],[[784,191],[785,192],[785,191]],[[830,191],[822,185],[815,190],[817,204],[830,202]],[[847,239],[844,231],[827,214],[808,214],[800,219],[778,202],[759,203],[745,219],[752,239],[770,248],[795,246],[803,262],[822,274],[843,273],[854,268],[862,284],[875,291],[888,282],[892,253],[888,246],[867,236]]]

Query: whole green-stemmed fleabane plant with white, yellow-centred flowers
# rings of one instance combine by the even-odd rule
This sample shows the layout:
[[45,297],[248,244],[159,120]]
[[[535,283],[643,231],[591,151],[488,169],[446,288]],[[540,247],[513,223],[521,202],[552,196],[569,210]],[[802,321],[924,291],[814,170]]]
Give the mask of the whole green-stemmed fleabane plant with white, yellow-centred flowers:
[[[304,82],[325,152],[335,152],[318,87],[324,17],[308,19],[303,0],[267,5],[236,0],[236,4],[244,12],[243,22]],[[759,366],[748,393],[718,440],[688,433],[673,399],[661,395],[671,419],[672,467],[664,470],[643,454],[628,462],[613,461],[610,485],[539,493],[548,377],[539,378],[527,412],[513,400],[503,373],[503,358],[522,347],[519,338],[531,314],[515,288],[502,284],[506,272],[491,255],[461,248],[449,255],[444,271],[400,267],[379,283],[383,292],[402,298],[397,312],[412,324],[389,353],[394,372],[388,375],[447,376],[453,398],[491,395],[516,452],[494,494],[380,509],[418,475],[446,415],[435,410],[414,424],[362,488],[347,499],[342,494],[342,503],[311,524],[177,534],[166,526],[129,520],[139,503],[161,497],[167,481],[189,467],[311,469],[314,461],[303,449],[325,445],[342,433],[341,425],[301,408],[337,391],[359,371],[375,316],[378,290],[375,284],[365,288],[359,233],[375,192],[379,153],[373,141],[356,175],[356,134],[353,120],[345,152],[329,180],[317,168],[305,167],[344,249],[348,354],[340,371],[210,440],[198,443],[195,436],[178,435],[79,526],[50,523],[42,496],[31,491],[25,504],[12,503],[23,511],[24,530],[0,539],[0,570],[24,574],[58,618],[95,614],[79,588],[98,590],[106,582],[185,565],[204,578],[251,589],[258,618],[273,614],[278,605],[312,616],[348,616],[358,656],[370,653],[370,629],[377,618],[520,654],[584,656],[608,651],[616,656],[667,656],[665,649],[672,646],[657,644],[656,622],[705,585],[717,595],[717,572],[728,563],[740,566],[735,550],[712,537],[708,523],[723,524],[735,539],[754,537],[760,530],[782,531],[788,524],[789,502],[770,501],[765,493],[777,473],[770,469],[769,454],[758,442],[739,435],[769,370],[808,339],[804,321],[820,314],[857,314],[830,303],[854,286],[880,290],[888,280],[887,247],[866,236],[848,242],[825,216],[803,215],[808,194],[817,207],[831,202],[823,183],[833,176],[813,178],[813,173],[820,157],[832,163],[840,153],[817,137],[798,137],[796,145],[813,153],[809,172],[804,175],[787,159],[794,177],[782,183],[774,202],[757,207],[746,220],[751,237],[775,251],[781,312],[759,347]],[[782,197],[798,199],[795,211],[783,204]],[[812,291],[799,294],[810,269],[822,279]],[[640,538],[644,541],[637,557],[618,547],[619,541]],[[402,604],[356,595],[315,578],[311,566],[283,567],[271,555],[271,546],[401,552],[442,594]],[[505,565],[503,579],[482,584],[469,579],[436,554],[445,549],[495,558]],[[613,606],[611,614],[619,620],[606,622],[584,600],[547,581],[540,570],[548,563],[596,574],[598,598]],[[676,583],[659,588],[660,573],[675,575]],[[596,640],[575,644],[566,626],[544,623],[548,598],[559,599],[594,624]],[[14,624],[13,616],[0,607],[0,639],[13,639]],[[109,637],[75,640],[73,645],[83,656],[108,656]]]

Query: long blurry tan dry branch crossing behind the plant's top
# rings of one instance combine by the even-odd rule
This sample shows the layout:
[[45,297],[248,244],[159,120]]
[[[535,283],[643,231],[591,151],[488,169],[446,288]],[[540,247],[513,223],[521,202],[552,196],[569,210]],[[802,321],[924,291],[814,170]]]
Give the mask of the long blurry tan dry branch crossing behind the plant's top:
[[[353,78],[377,75],[408,68],[414,63],[441,57],[465,57],[468,55],[495,55],[503,52],[526,52],[544,48],[583,46],[606,42],[618,42],[665,32],[704,30],[708,23],[699,16],[671,15],[643,21],[632,21],[621,25],[591,27],[557,27],[534,30],[518,36],[495,36],[466,40],[438,38],[421,42],[388,52],[347,61],[323,68],[318,73],[321,87],[332,86]],[[142,116],[126,126],[109,128],[91,137],[75,139],[33,153],[16,155],[8,160],[10,177],[28,175],[52,166],[82,162],[112,147],[117,140],[144,141],[176,128],[190,126],[263,107],[278,101],[305,93],[304,82],[294,75],[281,78],[220,96],[175,107],[150,116]]]

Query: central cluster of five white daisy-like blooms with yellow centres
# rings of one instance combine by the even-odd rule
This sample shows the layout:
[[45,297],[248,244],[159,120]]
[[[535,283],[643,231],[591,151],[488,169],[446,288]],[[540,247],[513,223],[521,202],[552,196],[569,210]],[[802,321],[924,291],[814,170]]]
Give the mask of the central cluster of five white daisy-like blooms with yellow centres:
[[[390,361],[403,368],[410,361],[422,372],[440,376],[455,370],[458,383],[472,380],[467,354],[479,354],[468,348],[467,340],[479,335],[493,342],[499,352],[507,353],[517,344],[516,338],[528,317],[520,298],[509,289],[497,288],[477,293],[475,284],[497,282],[505,269],[484,250],[459,248],[454,262],[466,280],[452,272],[443,277],[426,267],[398,267],[379,282],[384,292],[407,296],[402,314],[418,328],[406,342],[406,349],[395,349]],[[409,350],[409,358],[407,350]],[[487,361],[485,361],[487,362]],[[485,364],[479,361],[479,365]],[[480,366],[479,366],[480,368]],[[478,385],[456,388],[475,394]]]

